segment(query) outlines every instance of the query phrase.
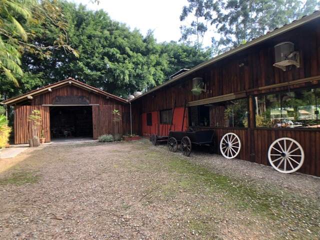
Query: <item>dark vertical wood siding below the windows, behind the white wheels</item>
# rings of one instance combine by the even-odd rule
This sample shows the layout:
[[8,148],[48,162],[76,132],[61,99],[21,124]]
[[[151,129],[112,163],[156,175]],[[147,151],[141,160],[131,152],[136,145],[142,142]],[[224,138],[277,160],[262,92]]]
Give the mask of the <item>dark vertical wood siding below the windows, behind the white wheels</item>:
[[[199,127],[194,130],[206,130]],[[248,128],[212,128],[215,130],[215,153],[220,152],[220,141],[225,133],[233,132],[241,141],[241,149],[236,156],[238,159],[250,160],[250,154],[254,155],[256,163],[269,165],[268,149],[273,141],[281,137],[290,137],[300,143],[304,151],[304,162],[298,172],[320,176],[320,131],[308,131],[301,129],[277,130],[277,129],[248,129]],[[252,134],[253,133],[253,134]],[[253,137],[252,137],[253,136]],[[312,140],[310,140],[312,139]]]

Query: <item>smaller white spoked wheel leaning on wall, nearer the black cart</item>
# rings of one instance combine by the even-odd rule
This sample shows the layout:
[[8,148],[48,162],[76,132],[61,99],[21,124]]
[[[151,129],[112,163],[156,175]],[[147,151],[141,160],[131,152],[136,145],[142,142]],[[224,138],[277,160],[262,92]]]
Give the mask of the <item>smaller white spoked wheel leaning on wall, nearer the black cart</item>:
[[220,151],[226,158],[234,158],[241,148],[240,138],[233,132],[226,133],[220,141]]

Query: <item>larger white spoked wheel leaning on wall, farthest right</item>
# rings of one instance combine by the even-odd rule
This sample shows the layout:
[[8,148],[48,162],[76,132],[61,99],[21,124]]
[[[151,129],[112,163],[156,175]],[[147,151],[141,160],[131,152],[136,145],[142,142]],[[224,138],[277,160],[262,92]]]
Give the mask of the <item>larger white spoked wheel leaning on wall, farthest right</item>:
[[290,173],[299,169],[304,160],[301,145],[292,138],[281,137],[272,142],[268,150],[271,166],[282,173]]

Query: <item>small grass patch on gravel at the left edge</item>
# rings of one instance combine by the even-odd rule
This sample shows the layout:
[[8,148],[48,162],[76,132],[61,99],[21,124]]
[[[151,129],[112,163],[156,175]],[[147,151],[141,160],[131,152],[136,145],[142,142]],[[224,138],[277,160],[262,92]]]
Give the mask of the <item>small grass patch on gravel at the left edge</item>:
[[12,173],[11,176],[0,179],[0,185],[14,184],[17,186],[26,183],[37,183],[41,178],[37,171],[22,171]]

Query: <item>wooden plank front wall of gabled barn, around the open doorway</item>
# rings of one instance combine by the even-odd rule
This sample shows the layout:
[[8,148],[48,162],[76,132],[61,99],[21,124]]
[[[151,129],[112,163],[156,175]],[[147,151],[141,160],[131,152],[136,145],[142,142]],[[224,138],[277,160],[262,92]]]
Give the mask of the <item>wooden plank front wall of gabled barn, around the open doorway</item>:
[[93,138],[97,138],[103,134],[114,133],[115,123],[113,122],[113,109],[119,110],[122,114],[119,133],[126,134],[130,132],[130,121],[128,119],[130,114],[129,104],[110,97],[107,98],[102,94],[90,92],[88,89],[80,88],[76,85],[62,85],[58,88],[52,88],[52,92],[33,95],[32,100],[22,103],[24,105],[14,106],[15,144],[27,143],[28,139],[32,138],[28,116],[33,109],[39,109],[41,111],[41,129],[45,130],[45,141],[50,141],[50,106],[42,106],[42,104],[52,104],[52,99],[56,96],[86,96],[86,98],[89,99],[89,104],[98,104],[92,105]]

